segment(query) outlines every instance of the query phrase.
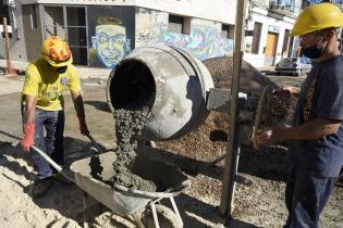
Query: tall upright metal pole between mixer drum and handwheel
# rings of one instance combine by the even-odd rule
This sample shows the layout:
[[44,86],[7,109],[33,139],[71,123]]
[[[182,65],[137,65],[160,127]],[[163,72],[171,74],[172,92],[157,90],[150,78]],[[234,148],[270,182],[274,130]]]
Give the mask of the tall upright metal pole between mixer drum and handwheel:
[[222,192],[219,213],[231,217],[233,211],[233,199],[235,189],[235,177],[238,164],[240,143],[237,139],[237,102],[240,89],[240,76],[242,58],[244,51],[244,15],[246,0],[237,0],[236,25],[233,53],[233,77],[231,80],[231,103],[230,103],[230,136],[228,138],[225,167],[222,181]]

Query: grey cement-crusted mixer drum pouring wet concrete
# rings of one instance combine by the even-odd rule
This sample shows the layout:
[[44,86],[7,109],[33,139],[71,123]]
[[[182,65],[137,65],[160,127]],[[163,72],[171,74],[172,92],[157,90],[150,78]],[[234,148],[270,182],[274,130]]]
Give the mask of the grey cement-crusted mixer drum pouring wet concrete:
[[133,50],[113,68],[107,100],[112,112],[148,106],[142,137],[171,140],[207,117],[210,88],[212,78],[199,60],[175,47],[152,45]]

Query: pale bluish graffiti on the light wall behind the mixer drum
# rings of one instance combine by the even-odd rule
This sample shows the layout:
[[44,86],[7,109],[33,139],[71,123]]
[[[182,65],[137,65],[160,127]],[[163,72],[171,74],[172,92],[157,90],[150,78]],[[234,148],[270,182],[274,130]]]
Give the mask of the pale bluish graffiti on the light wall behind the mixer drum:
[[[142,22],[144,14],[139,16],[139,22]],[[157,14],[154,18],[149,14],[149,22],[137,25],[136,47],[147,43],[167,43],[176,46],[201,61],[228,55],[233,51],[233,40],[222,38],[220,30],[209,23],[194,24],[191,27],[191,35],[183,35],[170,33],[166,22],[168,22],[168,14],[167,16]]]

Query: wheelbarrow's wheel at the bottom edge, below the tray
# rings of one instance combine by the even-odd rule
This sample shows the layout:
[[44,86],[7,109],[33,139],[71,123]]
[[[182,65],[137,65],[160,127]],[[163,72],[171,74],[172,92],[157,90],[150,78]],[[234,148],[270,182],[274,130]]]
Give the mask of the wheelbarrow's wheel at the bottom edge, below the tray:
[[[161,204],[155,204],[158,223],[161,228],[182,228],[183,225],[175,213]],[[151,208],[147,208],[140,218],[146,228],[155,228],[154,215]]]

